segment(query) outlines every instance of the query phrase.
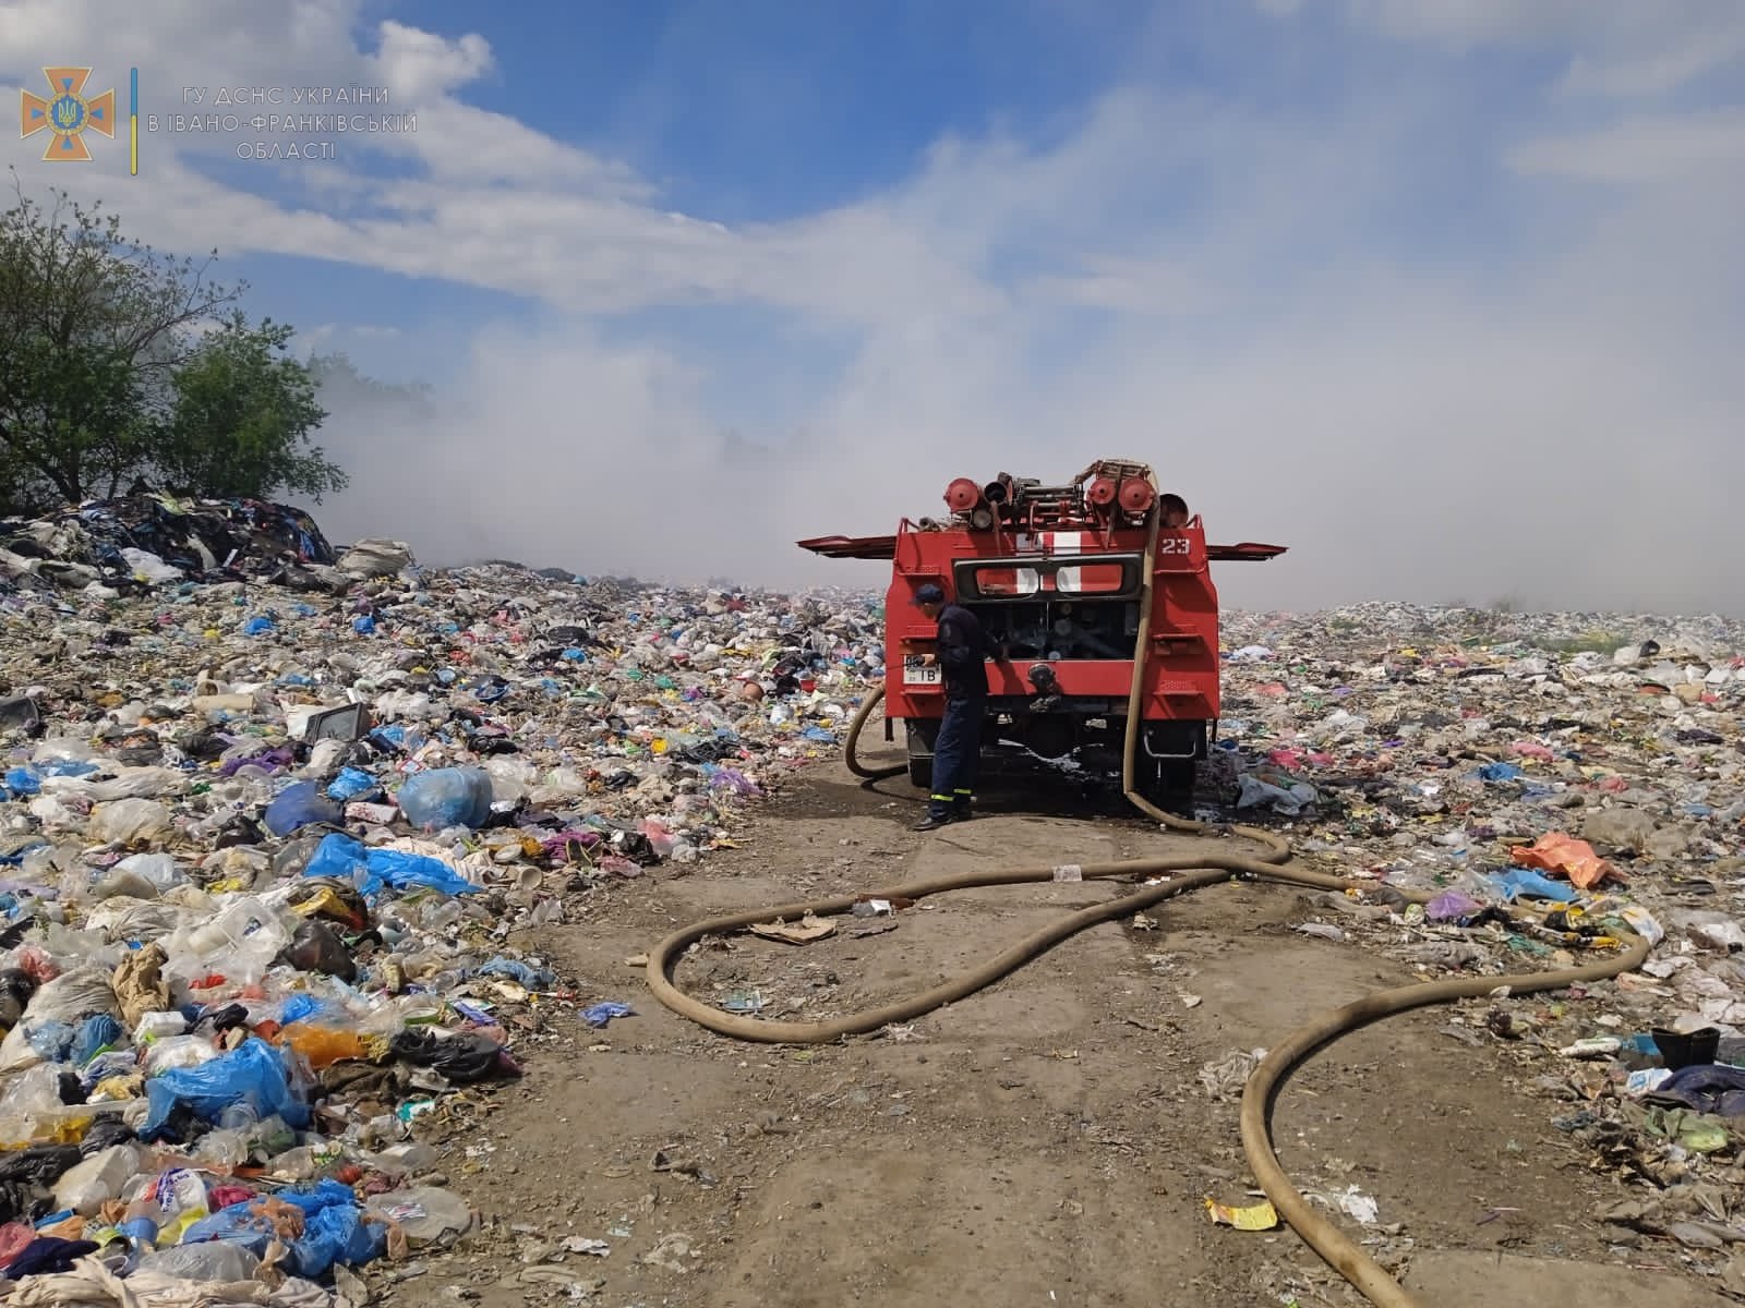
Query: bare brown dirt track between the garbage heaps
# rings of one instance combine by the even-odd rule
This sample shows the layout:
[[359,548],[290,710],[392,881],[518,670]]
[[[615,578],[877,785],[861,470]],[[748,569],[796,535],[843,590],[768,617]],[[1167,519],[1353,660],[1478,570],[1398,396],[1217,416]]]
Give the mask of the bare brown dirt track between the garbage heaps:
[[[1234,1231],[1204,1207],[1255,1200],[1235,1097],[1209,1093],[1201,1067],[1412,978],[1358,944],[1293,931],[1324,916],[1304,893],[1232,884],[1171,900],[1153,930],[1096,926],[907,1031],[824,1046],[707,1032],[656,1005],[626,964],[675,926],[759,903],[988,860],[1202,848],[1119,800],[1035,788],[989,799],[974,823],[921,835],[902,778],[864,788],[832,764],[768,804],[742,849],[578,900],[571,924],[536,944],[586,1001],[621,999],[637,1015],[607,1031],[564,1015],[548,1022],[562,1034],[522,1050],[527,1078],[480,1097],[445,1144],[480,1228],[373,1270],[372,1301],[1354,1303],[1286,1228]],[[1124,889],[953,893],[892,930],[839,919],[838,935],[808,945],[740,935],[679,978],[705,999],[756,992],[770,1017],[855,1012]],[[1454,1039],[1448,1020],[1393,1018],[1298,1073],[1274,1116],[1298,1186],[1372,1196],[1375,1226],[1340,1221],[1384,1263],[1408,1264],[1408,1285],[1434,1308],[1719,1303],[1679,1271],[1675,1250],[1605,1242],[1591,1214],[1621,1191],[1551,1125],[1572,1106],[1532,1090],[1555,1071],[1544,1053]],[[611,1252],[565,1252],[576,1238]]]

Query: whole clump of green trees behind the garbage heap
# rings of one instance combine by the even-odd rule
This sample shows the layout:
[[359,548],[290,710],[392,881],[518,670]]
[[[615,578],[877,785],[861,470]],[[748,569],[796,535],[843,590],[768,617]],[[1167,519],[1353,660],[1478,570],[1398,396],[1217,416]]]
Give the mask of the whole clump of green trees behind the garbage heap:
[[[250,326],[246,286],[122,237],[65,192],[0,215],[0,511],[115,495],[134,478],[190,494],[319,495],[344,473],[309,434],[290,330]],[[220,323],[216,331],[204,331]],[[183,371],[188,371],[183,377]],[[237,394],[220,401],[222,384]]]

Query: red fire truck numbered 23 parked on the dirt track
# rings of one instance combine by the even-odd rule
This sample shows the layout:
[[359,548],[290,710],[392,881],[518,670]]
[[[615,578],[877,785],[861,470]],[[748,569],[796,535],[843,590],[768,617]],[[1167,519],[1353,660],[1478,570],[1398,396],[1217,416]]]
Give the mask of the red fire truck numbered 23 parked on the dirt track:
[[[1002,473],[946,487],[944,518],[904,518],[895,535],[801,541],[829,558],[892,560],[885,596],[885,738],[902,720],[909,780],[932,783],[944,713],[927,582],[975,612],[1009,663],[988,670],[984,771],[1014,760],[1122,767],[1129,706],[1139,731],[1133,781],[1148,799],[1194,785],[1218,720],[1213,560],[1269,560],[1284,546],[1208,546],[1199,514],[1159,494],[1152,469],[1099,460],[1064,485]],[[1150,558],[1150,567],[1146,560]]]

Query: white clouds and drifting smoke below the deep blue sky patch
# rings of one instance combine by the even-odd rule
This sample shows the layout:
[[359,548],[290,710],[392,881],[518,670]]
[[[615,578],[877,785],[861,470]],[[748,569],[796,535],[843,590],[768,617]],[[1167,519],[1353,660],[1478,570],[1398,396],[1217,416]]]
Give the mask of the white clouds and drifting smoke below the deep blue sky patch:
[[[1665,65],[1632,75],[1642,94],[1700,75],[1675,52],[1724,12],[1644,9],[1663,23],[1633,0],[1342,12],[1429,51],[1550,51],[1590,70],[1565,91],[1625,94],[1632,61]],[[724,225],[672,213],[630,162],[469,106],[469,85],[510,73],[487,44],[391,24],[358,49],[358,12],[164,0],[140,49],[91,3],[0,10],[0,51],[65,42],[162,85],[391,75],[419,131],[380,143],[410,176],[342,160],[288,204],[154,141],[136,180],[112,152],[65,181],[159,244],[246,242],[553,314],[480,331],[464,368],[431,378],[433,413],[337,406],[323,441],[354,488],[321,514],[335,537],[396,535],[438,560],[876,581],[808,570],[790,542],[937,513],[960,473],[1052,478],[1131,453],[1215,535],[1293,546],[1222,570],[1237,602],[1745,609],[1714,527],[1745,474],[1728,349],[1745,303],[1736,108],[1605,122],[1546,96],[1541,117],[1497,127],[1469,63],[1399,85],[1352,54],[1324,105],[1113,87],[1049,146],[958,134],[852,204]],[[1480,129],[1504,145],[1475,166]],[[787,340],[632,344],[600,321],[696,303],[780,310],[797,359]],[[339,323],[312,338],[346,340]]]

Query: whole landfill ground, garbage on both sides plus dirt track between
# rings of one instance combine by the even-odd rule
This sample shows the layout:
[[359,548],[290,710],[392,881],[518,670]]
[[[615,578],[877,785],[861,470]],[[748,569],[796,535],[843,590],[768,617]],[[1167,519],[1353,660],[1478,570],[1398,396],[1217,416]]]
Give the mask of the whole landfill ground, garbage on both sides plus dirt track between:
[[1625,937],[1612,980],[1330,1045],[1279,1160],[1424,1305],[1745,1301],[1742,624],[1225,614],[1195,816],[1359,889],[1211,886],[869,1036],[712,1034],[646,980],[686,923],[862,896],[674,973],[810,1022],[1133,886],[867,891],[1242,844],[1042,766],[913,832],[841,748],[881,630],[250,502],[0,523],[0,1303],[1358,1303],[1256,1189],[1249,1073],[1370,991]]

